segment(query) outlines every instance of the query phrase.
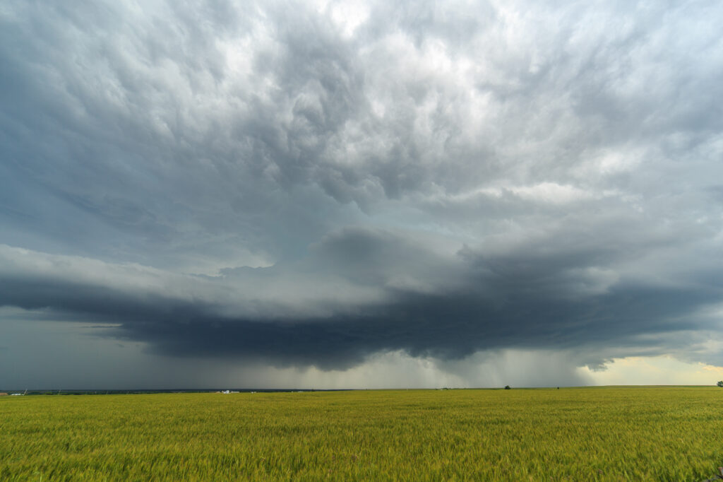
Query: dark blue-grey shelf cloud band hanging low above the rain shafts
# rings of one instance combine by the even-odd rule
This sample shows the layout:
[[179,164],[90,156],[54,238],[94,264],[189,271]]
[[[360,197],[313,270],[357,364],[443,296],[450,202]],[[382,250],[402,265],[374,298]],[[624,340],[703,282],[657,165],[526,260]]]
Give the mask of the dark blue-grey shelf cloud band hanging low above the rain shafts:
[[[164,355],[346,368],[379,351],[456,359],[499,347],[580,350],[596,364],[608,345],[665,350],[664,335],[706,329],[709,319],[696,311],[723,300],[711,279],[611,280],[595,266],[629,255],[574,244],[538,243],[514,255],[466,249],[445,259],[388,232],[346,229],[288,265],[226,270],[220,279],[144,271],[116,286],[99,286],[97,274],[74,284],[43,279],[44,269],[2,279],[0,301],[120,323],[108,334]],[[56,266],[74,263],[84,270],[82,260]],[[103,267],[116,270],[112,278],[123,279],[119,267]],[[146,287],[148,278],[161,291]],[[229,288],[233,299],[219,296]]]

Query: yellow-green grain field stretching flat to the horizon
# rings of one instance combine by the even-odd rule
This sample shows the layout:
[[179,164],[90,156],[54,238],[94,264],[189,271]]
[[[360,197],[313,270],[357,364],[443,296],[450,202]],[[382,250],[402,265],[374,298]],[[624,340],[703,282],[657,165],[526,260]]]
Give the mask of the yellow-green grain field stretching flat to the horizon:
[[702,481],[723,389],[0,399],[0,480]]

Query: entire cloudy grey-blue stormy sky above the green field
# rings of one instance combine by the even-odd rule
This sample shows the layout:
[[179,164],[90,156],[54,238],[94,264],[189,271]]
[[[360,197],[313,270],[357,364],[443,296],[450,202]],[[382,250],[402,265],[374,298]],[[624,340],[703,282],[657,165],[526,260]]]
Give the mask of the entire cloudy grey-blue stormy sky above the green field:
[[0,4],[0,388],[715,384],[723,4]]

